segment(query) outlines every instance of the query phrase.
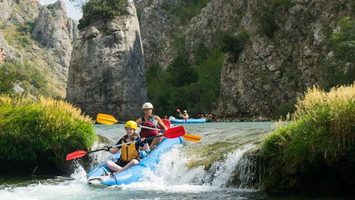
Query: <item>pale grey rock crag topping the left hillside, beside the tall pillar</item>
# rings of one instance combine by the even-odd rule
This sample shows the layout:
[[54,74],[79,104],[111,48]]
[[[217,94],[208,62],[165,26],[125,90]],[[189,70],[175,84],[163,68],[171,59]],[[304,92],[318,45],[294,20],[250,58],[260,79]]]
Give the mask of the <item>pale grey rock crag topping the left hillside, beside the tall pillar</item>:
[[57,54],[57,63],[63,67],[63,73],[68,76],[71,51],[78,37],[78,22],[66,16],[63,1],[43,6],[37,18],[32,36],[43,46],[53,49]]

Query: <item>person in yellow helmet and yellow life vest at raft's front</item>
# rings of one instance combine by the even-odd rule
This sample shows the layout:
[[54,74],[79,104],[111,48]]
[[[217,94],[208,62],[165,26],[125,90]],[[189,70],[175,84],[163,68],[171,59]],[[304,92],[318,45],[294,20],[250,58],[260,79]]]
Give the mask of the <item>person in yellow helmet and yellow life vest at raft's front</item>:
[[143,148],[144,151],[149,151],[149,145],[146,142],[146,138],[140,138],[136,133],[137,124],[134,121],[128,121],[124,124],[124,129],[126,129],[126,135],[116,143],[116,145],[127,143],[131,141],[136,141],[135,143],[130,143],[124,146],[118,146],[115,148],[109,149],[108,146],[105,146],[105,151],[108,151],[112,154],[117,153],[121,148],[121,158],[117,162],[112,160],[107,160],[106,166],[109,170],[115,173],[123,172],[129,167],[138,165],[140,160],[139,147]]

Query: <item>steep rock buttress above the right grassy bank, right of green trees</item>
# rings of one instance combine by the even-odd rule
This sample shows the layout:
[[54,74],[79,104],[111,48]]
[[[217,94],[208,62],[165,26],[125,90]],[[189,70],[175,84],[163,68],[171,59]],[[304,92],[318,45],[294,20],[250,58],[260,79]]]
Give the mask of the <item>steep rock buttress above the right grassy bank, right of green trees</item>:
[[307,87],[322,83],[322,63],[332,62],[330,33],[339,19],[354,16],[349,1],[291,1],[274,8],[273,31],[265,33],[255,15],[267,7],[244,1],[235,8],[244,14],[225,17],[238,14],[235,33],[246,30],[250,41],[238,61],[225,57],[219,115],[226,121],[277,119]]

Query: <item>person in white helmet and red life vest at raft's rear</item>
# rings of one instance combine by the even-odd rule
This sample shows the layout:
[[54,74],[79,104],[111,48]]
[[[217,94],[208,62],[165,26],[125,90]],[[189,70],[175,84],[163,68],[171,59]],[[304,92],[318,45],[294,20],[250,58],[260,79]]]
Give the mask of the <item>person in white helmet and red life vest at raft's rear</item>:
[[[150,102],[145,102],[144,105],[141,107],[143,112],[144,112],[144,117],[141,117],[139,119],[136,119],[136,124],[142,125],[144,127],[151,127],[155,129],[162,129],[166,131],[168,128],[165,127],[163,121],[161,120],[161,117],[154,115],[153,114],[153,105]],[[151,129],[141,129],[140,136],[141,137],[152,137],[152,136],[157,136],[161,135],[159,131],[156,130],[151,130]],[[163,137],[158,137],[153,139],[152,141],[148,141],[149,146],[152,148],[153,146],[156,146],[158,143],[163,141]]]

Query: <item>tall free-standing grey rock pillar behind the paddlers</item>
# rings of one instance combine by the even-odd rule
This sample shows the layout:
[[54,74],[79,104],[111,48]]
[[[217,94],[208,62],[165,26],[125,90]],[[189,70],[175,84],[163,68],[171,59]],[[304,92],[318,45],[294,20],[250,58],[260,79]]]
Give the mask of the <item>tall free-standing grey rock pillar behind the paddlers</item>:
[[[133,1],[128,15],[83,29],[74,45],[66,99],[95,117],[136,119],[146,101],[146,76]],[[100,24],[100,23],[95,23]],[[105,28],[102,33],[99,29]]]

